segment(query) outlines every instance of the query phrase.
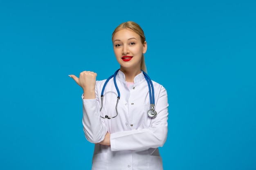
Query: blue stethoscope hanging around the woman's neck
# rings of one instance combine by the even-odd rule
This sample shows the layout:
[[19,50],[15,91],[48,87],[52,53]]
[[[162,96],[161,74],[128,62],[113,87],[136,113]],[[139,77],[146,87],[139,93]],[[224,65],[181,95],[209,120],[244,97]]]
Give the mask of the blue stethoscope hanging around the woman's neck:
[[[103,88],[102,88],[102,91],[101,91],[101,109],[103,107],[103,93],[104,93],[104,90],[105,90],[105,87],[108,83],[108,81],[114,77],[114,84],[115,84],[115,87],[117,89],[117,104],[119,102],[119,99],[120,99],[120,92],[119,92],[119,89],[117,87],[117,81],[116,81],[116,75],[118,73],[120,69],[118,69],[113,75],[111,75],[110,77],[108,77],[108,79],[106,80],[105,84],[103,85]],[[149,91],[149,97],[150,97],[150,109],[148,110],[148,116],[149,117],[156,117],[157,116],[157,112],[155,111],[155,95],[154,95],[154,87],[153,87],[153,83],[150,79],[150,77],[143,71],[141,70],[142,73],[144,74],[144,77],[148,83],[148,91]],[[116,112],[117,112],[117,104],[116,104]],[[101,111],[100,109],[100,111]],[[118,115],[118,112],[117,112],[117,115]],[[113,117],[110,117],[108,115],[105,115],[105,117],[102,117],[100,116],[101,118],[103,119],[111,119],[111,118],[114,118],[114,117],[117,117],[117,115],[113,116]]]

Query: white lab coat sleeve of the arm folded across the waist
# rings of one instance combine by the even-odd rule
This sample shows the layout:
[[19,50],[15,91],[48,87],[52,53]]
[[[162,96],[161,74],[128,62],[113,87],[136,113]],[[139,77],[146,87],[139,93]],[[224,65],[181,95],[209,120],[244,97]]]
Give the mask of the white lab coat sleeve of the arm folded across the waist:
[[112,151],[138,150],[162,147],[168,132],[168,98],[166,89],[161,86],[155,110],[157,116],[152,118],[149,128],[116,132],[110,135]]

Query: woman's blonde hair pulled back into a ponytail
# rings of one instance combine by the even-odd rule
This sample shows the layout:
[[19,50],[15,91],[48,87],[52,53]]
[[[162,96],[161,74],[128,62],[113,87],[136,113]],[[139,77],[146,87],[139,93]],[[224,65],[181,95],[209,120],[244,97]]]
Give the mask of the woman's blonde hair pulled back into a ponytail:
[[[121,29],[131,29],[132,31],[134,31],[135,33],[137,33],[140,36],[141,39],[141,43],[144,44],[146,41],[146,37],[144,35],[144,31],[141,29],[141,27],[139,26],[139,24],[133,22],[133,21],[128,21],[128,22],[123,22],[121,23],[119,26],[117,26],[117,28],[114,30],[114,32],[112,33],[112,40],[113,40],[113,36],[115,35],[115,33]],[[147,73],[147,68],[146,68],[146,63],[145,63],[145,57],[144,54],[142,54],[141,57],[141,64],[140,64],[140,68],[141,70],[143,70],[144,72]]]

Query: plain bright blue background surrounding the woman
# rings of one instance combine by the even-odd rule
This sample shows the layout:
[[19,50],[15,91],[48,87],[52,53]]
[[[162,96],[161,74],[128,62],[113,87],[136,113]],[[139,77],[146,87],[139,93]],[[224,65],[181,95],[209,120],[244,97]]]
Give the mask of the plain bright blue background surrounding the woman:
[[132,20],[168,92],[165,170],[256,170],[256,1],[0,2],[0,170],[89,170],[82,89],[119,68],[111,35]]

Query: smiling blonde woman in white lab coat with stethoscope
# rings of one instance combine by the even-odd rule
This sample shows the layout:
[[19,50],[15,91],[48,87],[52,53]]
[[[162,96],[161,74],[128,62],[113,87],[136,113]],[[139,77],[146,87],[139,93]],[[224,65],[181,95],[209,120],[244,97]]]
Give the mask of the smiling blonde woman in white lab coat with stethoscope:
[[162,170],[158,147],[167,137],[168,98],[146,73],[144,32],[124,22],[112,42],[120,64],[114,75],[101,81],[91,71],[70,75],[83,88],[83,130],[95,144],[92,170]]

